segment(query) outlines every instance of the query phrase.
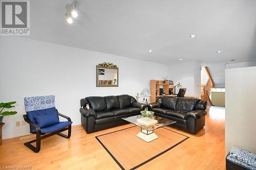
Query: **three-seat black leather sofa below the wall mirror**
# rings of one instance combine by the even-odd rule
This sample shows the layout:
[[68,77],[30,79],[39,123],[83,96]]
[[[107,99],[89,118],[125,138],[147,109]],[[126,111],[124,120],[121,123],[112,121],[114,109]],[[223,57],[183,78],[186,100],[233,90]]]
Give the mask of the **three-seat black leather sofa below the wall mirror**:
[[[127,124],[122,117],[138,115],[145,107],[127,94],[91,96],[81,99],[80,103],[81,123],[87,133]],[[90,105],[89,110],[83,108],[86,104]]]

